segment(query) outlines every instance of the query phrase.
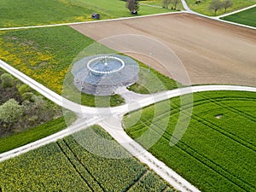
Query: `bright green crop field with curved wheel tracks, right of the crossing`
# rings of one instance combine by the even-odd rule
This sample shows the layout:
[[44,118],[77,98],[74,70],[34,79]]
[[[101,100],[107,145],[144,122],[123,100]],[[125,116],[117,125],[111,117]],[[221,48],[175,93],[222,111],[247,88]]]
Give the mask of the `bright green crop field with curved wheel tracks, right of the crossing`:
[[[179,98],[171,99],[170,103],[156,104],[160,105],[161,111],[155,111],[155,106],[144,108],[136,124],[134,119],[141,112],[126,115],[125,131],[147,146],[150,137],[154,138],[166,128],[149,152],[201,191],[255,191],[256,93],[195,93],[194,104],[186,103],[181,112]],[[168,110],[170,105],[171,115]],[[179,113],[186,115],[192,107],[188,129],[182,139],[171,147],[170,139]],[[157,113],[157,118],[152,122],[154,113]],[[169,122],[167,127],[163,127],[165,121]],[[147,141],[140,139],[145,131],[151,133]]]

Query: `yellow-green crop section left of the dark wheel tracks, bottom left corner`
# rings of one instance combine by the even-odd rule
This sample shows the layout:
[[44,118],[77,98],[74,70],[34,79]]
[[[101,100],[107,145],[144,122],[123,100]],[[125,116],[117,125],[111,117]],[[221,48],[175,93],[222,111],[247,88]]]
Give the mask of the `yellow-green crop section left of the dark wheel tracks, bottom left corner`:
[[3,161],[3,191],[90,191],[56,143]]

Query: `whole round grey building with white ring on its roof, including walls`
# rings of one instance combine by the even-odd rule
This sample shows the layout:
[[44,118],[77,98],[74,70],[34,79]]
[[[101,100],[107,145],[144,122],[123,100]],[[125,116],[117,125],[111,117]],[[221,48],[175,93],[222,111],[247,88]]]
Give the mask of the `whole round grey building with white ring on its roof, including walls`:
[[137,61],[124,55],[93,55],[74,63],[75,86],[84,93],[97,96],[113,95],[119,86],[137,82]]

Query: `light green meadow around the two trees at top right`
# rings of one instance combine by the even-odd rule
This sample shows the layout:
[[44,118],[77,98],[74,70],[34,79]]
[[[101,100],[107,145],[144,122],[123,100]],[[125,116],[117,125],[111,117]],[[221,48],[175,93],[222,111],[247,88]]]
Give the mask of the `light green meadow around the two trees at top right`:
[[[214,11],[209,9],[209,4],[212,0],[201,0],[201,3],[196,4],[195,0],[186,0],[189,8],[203,15],[214,16]],[[233,3],[232,8],[227,9],[227,13],[235,11],[237,9],[246,8],[256,3],[256,0],[231,0]],[[217,15],[224,15],[224,9],[220,9]]]

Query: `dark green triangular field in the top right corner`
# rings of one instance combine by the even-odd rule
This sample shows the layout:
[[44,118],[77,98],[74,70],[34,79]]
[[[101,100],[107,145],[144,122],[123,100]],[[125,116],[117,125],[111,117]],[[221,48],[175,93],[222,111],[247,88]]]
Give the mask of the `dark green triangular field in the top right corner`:
[[256,27],[256,7],[221,19]]

